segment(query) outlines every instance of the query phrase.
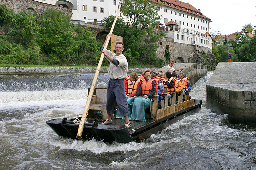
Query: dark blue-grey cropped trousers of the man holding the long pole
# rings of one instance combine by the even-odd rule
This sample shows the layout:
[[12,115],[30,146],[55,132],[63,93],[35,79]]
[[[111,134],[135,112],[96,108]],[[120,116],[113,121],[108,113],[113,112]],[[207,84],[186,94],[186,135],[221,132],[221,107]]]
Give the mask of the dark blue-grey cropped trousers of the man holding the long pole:
[[106,111],[114,114],[116,104],[122,116],[128,116],[128,105],[125,95],[124,79],[109,79],[107,88]]

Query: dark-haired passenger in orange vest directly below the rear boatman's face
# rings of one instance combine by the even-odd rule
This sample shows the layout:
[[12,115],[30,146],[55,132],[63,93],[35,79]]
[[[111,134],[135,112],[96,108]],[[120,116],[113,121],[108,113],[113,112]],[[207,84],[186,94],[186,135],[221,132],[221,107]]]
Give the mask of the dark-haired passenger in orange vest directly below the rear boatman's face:
[[[170,71],[167,71],[165,72],[165,79],[163,79],[163,86],[164,87],[167,87],[167,97],[168,97],[168,101],[170,98],[173,97],[173,94],[172,92],[175,91],[175,88],[174,88],[174,84],[175,84],[175,79],[172,78],[172,73]],[[168,105],[170,106],[170,103],[168,102]]]

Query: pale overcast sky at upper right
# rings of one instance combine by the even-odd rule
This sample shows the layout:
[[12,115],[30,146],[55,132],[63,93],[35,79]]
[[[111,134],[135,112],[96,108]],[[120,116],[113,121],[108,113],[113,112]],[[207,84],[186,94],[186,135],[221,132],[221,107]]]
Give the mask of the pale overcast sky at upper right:
[[222,35],[240,32],[245,24],[256,26],[256,0],[183,0],[210,18],[211,31]]

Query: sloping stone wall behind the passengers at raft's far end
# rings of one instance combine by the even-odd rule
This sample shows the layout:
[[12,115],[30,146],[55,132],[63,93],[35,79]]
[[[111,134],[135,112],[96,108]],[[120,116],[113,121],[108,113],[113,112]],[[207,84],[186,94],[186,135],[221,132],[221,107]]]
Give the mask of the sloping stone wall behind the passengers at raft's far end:
[[[168,65],[167,65],[168,66]],[[166,67],[166,66],[165,66]],[[165,67],[159,68],[156,71],[165,72]],[[191,85],[195,84],[204,74],[207,73],[207,66],[196,63],[175,63],[173,68],[184,68],[182,72],[189,78]],[[176,72],[177,74],[180,71]]]

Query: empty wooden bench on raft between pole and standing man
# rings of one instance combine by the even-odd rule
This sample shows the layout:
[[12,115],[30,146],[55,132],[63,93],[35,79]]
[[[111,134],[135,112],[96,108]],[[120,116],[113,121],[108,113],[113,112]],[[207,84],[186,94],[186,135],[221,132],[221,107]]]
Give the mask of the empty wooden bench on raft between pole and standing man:
[[[88,92],[90,88],[88,88]],[[107,119],[108,114],[106,112],[106,87],[97,86],[94,89],[93,96],[88,111],[88,119],[94,119],[95,113],[101,111],[102,119]]]

